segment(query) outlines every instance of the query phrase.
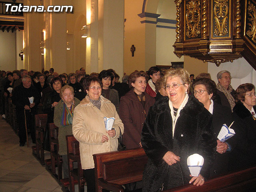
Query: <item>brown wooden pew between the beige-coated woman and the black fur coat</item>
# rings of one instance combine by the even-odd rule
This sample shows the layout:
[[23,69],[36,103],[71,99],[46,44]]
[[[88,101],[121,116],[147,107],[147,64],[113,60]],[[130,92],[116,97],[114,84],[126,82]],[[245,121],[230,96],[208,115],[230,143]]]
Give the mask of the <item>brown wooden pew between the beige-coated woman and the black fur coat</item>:
[[96,192],[124,192],[122,185],[142,180],[148,161],[143,148],[94,154]]

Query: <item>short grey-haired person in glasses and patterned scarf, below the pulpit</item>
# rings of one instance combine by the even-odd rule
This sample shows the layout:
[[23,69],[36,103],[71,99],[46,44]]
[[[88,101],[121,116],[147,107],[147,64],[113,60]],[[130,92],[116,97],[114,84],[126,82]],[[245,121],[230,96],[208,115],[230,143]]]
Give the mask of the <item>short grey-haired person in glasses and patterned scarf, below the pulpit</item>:
[[235,106],[235,90],[230,85],[232,79],[230,72],[226,70],[218,72],[217,79],[217,95],[220,96],[221,105],[227,106],[232,110]]

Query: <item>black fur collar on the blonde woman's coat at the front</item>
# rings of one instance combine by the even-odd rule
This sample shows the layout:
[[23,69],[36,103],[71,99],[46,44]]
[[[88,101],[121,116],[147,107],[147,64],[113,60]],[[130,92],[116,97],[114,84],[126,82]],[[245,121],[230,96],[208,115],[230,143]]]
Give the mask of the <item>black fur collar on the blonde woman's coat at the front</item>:
[[[164,110],[170,110],[168,102],[169,98],[164,97],[155,102],[155,104],[152,106],[152,110],[156,114],[161,114],[164,112]],[[202,112],[204,109],[204,105],[201,102],[199,102],[194,96],[189,95],[187,104],[180,112],[186,113],[190,116],[194,116]]]

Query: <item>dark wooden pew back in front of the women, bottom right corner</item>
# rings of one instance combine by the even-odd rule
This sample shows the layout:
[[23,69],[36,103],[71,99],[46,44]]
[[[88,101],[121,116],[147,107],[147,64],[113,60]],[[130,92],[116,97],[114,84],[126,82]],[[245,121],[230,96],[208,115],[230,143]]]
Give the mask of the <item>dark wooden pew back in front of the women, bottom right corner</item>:
[[202,186],[191,184],[164,192],[251,192],[256,189],[256,167],[208,180]]

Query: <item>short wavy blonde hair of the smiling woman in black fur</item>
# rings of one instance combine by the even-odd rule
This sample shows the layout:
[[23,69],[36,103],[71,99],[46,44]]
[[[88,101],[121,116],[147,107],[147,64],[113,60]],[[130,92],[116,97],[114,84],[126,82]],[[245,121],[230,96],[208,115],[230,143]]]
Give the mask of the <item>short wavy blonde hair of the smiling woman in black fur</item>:
[[164,83],[166,84],[166,80],[167,78],[174,78],[174,77],[179,77],[180,80],[182,81],[182,84],[186,83],[188,84],[188,90],[190,87],[190,76],[187,70],[182,69],[182,68],[178,68],[178,69],[168,69],[165,74],[164,74]]

